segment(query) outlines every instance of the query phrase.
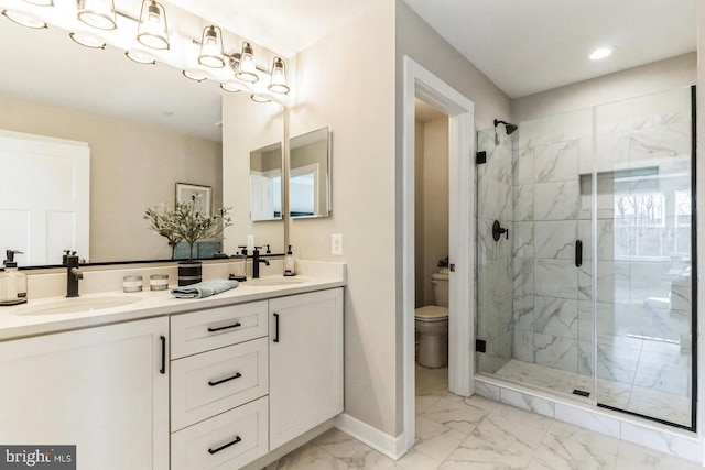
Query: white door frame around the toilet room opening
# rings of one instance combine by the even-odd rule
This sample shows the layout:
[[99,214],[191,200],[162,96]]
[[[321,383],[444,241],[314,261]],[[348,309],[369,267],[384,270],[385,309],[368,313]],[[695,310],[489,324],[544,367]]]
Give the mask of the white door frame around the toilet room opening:
[[474,103],[404,56],[402,156],[403,449],[415,441],[414,348],[414,99],[448,116],[449,260],[448,389],[470,396],[475,375],[475,127]]

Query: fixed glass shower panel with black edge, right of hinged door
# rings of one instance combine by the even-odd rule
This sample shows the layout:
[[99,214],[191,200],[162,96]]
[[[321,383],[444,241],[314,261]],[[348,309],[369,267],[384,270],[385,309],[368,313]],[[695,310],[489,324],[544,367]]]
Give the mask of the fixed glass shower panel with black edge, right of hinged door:
[[597,107],[597,401],[693,427],[691,89]]

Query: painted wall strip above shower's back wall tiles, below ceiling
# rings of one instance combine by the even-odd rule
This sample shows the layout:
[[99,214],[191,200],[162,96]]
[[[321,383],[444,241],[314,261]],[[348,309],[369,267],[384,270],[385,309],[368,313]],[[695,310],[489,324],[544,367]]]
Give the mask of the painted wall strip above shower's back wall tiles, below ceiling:
[[627,98],[694,85],[695,53],[654,62],[604,77],[566,85],[511,101],[511,119],[524,120],[620,101]]

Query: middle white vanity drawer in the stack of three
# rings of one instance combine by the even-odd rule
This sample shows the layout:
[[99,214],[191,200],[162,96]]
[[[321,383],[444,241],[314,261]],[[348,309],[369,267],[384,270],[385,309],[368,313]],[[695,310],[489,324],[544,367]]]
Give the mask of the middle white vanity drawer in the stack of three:
[[172,431],[269,392],[267,338],[171,363]]

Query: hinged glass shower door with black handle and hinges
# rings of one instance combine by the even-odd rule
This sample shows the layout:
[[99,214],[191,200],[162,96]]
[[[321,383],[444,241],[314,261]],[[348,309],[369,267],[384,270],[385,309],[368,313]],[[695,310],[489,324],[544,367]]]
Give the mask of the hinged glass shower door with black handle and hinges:
[[[487,161],[477,166],[477,370],[581,400],[593,398],[594,383],[592,129],[585,110],[521,122],[511,138],[500,127],[498,140],[494,130],[477,140]],[[507,185],[510,218],[501,220],[496,201]],[[496,219],[509,229],[499,240]]]

